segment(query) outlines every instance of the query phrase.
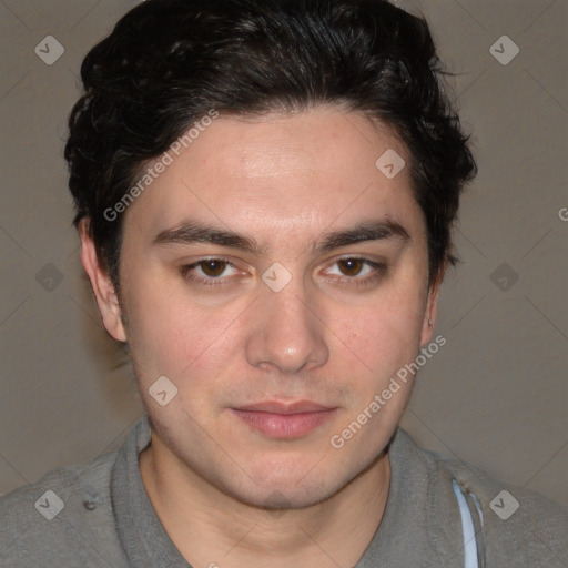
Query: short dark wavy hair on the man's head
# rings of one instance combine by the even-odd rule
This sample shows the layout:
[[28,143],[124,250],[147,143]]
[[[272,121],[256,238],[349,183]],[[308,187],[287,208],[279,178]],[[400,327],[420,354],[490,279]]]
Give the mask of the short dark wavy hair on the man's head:
[[384,0],[148,0],[81,67],[65,159],[75,226],[87,217],[119,290],[113,207],[211,109],[222,115],[341,104],[393,126],[426,220],[429,283],[455,265],[452,225],[477,168],[444,90],[428,26]]

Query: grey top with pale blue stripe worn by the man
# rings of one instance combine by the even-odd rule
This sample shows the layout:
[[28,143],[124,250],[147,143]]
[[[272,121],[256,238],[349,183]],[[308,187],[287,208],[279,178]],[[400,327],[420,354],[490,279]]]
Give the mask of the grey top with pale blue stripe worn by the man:
[[[150,439],[144,416],[119,452],[0,498],[0,567],[191,568],[142,483]],[[388,452],[385,514],[355,568],[568,567],[567,508],[422,450],[400,428]]]

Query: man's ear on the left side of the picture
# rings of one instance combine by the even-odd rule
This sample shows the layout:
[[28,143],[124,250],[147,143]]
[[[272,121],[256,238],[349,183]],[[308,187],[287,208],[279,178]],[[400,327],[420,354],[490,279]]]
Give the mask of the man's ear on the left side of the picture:
[[102,323],[109,334],[119,342],[126,341],[126,332],[122,322],[119,298],[108,272],[101,266],[93,240],[89,233],[89,220],[79,223],[81,240],[81,262],[91,281]]

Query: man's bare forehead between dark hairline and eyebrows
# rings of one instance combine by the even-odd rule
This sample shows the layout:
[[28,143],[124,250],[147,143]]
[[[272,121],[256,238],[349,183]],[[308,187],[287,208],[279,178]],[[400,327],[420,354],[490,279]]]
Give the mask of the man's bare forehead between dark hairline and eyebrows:
[[[126,211],[154,236],[190,219],[291,240],[381,216],[410,232],[422,222],[409,168],[402,166],[409,163],[404,144],[384,125],[338,108],[222,115],[169,153],[171,163]],[[385,175],[385,154],[399,159],[397,175]]]

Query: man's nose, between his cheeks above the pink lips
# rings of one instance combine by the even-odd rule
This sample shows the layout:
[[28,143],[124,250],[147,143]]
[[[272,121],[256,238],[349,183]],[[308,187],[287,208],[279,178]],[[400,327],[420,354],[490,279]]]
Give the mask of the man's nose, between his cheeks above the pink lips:
[[261,290],[254,304],[245,353],[250,365],[283,374],[306,372],[329,357],[323,314],[308,297],[301,281],[293,278],[284,290]]

